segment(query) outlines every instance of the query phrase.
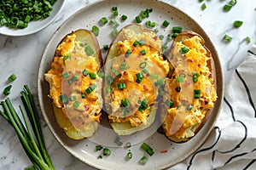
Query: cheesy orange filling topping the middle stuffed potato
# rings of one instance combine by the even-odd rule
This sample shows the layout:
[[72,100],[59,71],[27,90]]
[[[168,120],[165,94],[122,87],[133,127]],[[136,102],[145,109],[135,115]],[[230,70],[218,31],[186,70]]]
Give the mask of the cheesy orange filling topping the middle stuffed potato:
[[[170,65],[163,59],[161,41],[154,33],[137,34],[123,29],[121,34],[124,41],[113,44],[119,54],[111,68],[118,73],[110,73],[113,83],[110,85],[111,92],[108,92],[111,108],[108,119],[111,122],[130,122],[131,127],[138,127],[147,124],[158,96],[158,87],[154,82],[166,77]],[[121,65],[126,65],[126,68],[122,69]],[[137,74],[143,75],[141,82],[137,82]],[[119,83],[125,83],[125,88],[118,88]],[[127,99],[129,106],[125,106],[122,99]],[[145,104],[147,106],[142,109]]]

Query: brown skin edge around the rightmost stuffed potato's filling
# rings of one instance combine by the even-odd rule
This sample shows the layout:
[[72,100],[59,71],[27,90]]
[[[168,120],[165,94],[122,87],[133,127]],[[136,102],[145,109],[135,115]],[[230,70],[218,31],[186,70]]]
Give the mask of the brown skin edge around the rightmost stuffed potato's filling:
[[[205,41],[203,39],[203,37],[201,37],[201,35],[199,35],[198,33],[196,33],[195,31],[183,31],[181,33],[179,33],[177,35],[177,37],[174,39],[173,43],[172,43],[172,46],[169,50],[169,53],[167,55],[167,59],[172,62],[172,59],[175,58],[175,55],[172,54],[172,51],[173,51],[173,48],[176,44],[176,42],[183,42],[185,39],[187,38],[190,38],[190,37],[195,37],[195,36],[198,36],[201,38],[201,45],[207,50],[207,57],[211,58],[209,60],[207,60],[207,67],[209,68],[209,70],[211,71],[211,77],[208,77],[208,78],[212,78],[213,79],[213,87],[216,89],[217,88],[217,83],[216,83],[216,71],[215,71],[215,65],[214,65],[214,60],[212,59],[212,54],[211,54],[211,51],[206,47],[205,45]],[[174,72],[175,68],[173,68],[173,71]],[[172,74],[169,74],[169,76],[171,75],[172,77]],[[162,100],[163,101],[163,100]],[[163,103],[163,102],[162,102]],[[213,109],[213,108],[212,108]],[[207,122],[207,119],[208,117],[211,115],[211,112],[212,112],[212,109],[209,109],[207,111],[207,113],[205,114],[205,117],[202,119],[200,125],[198,127],[196,127],[195,129],[195,135],[196,133],[198,133],[202,127],[204,127],[205,123]],[[166,115],[166,111],[168,110],[168,108],[166,107],[166,105],[162,104],[160,106],[160,113],[163,114],[163,115]],[[163,118],[164,119],[164,118]],[[160,127],[160,132],[164,133],[166,135],[166,129],[162,126]],[[175,143],[184,143],[184,142],[187,142],[189,141],[189,139],[192,139],[193,137],[189,137],[189,138],[184,138],[184,139],[177,139],[175,136],[166,136],[167,139],[170,139],[172,140],[172,142],[175,142]]]

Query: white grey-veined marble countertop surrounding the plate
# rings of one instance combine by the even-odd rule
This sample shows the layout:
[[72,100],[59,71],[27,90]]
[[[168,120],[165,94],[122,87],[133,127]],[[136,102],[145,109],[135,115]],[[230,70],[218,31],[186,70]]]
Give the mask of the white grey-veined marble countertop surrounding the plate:
[[[93,2],[94,0],[67,0],[55,22],[38,33],[26,37],[0,35],[0,89],[7,86],[6,78],[15,73],[18,78],[13,83],[13,91],[9,96],[14,103],[20,96],[20,87],[24,84],[29,85],[33,94],[37,93],[38,65],[44,47],[54,31],[79,8]],[[198,0],[164,0],[164,2],[189,14],[207,32],[217,48],[225,81],[228,81],[230,72],[245,59],[247,50],[256,40],[256,1],[237,1],[230,12],[223,11],[224,4],[228,3],[228,0],[205,0],[203,2],[207,4],[205,10],[201,10],[202,3]],[[233,28],[235,20],[243,21],[243,25],[238,29]],[[229,43],[222,41],[226,33],[233,37]],[[246,37],[251,38],[251,43],[245,41]],[[0,99],[4,99],[2,92]],[[56,169],[94,169],[67,153],[49,132],[43,119],[42,122],[45,142]],[[0,117],[0,124],[0,169],[23,169],[31,165],[13,128],[2,117]]]

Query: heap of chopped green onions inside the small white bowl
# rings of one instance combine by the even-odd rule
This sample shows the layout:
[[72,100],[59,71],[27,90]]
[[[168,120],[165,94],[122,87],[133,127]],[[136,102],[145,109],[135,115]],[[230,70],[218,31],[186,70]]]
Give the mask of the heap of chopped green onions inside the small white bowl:
[[32,20],[49,17],[56,0],[0,0],[0,26],[23,29]]

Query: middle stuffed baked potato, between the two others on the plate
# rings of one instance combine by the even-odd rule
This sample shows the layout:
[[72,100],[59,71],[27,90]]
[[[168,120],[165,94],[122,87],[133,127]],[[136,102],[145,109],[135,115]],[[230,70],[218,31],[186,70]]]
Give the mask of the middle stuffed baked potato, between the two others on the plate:
[[159,88],[170,71],[161,44],[154,31],[137,24],[113,39],[105,61],[104,111],[119,135],[141,131],[155,120]]

